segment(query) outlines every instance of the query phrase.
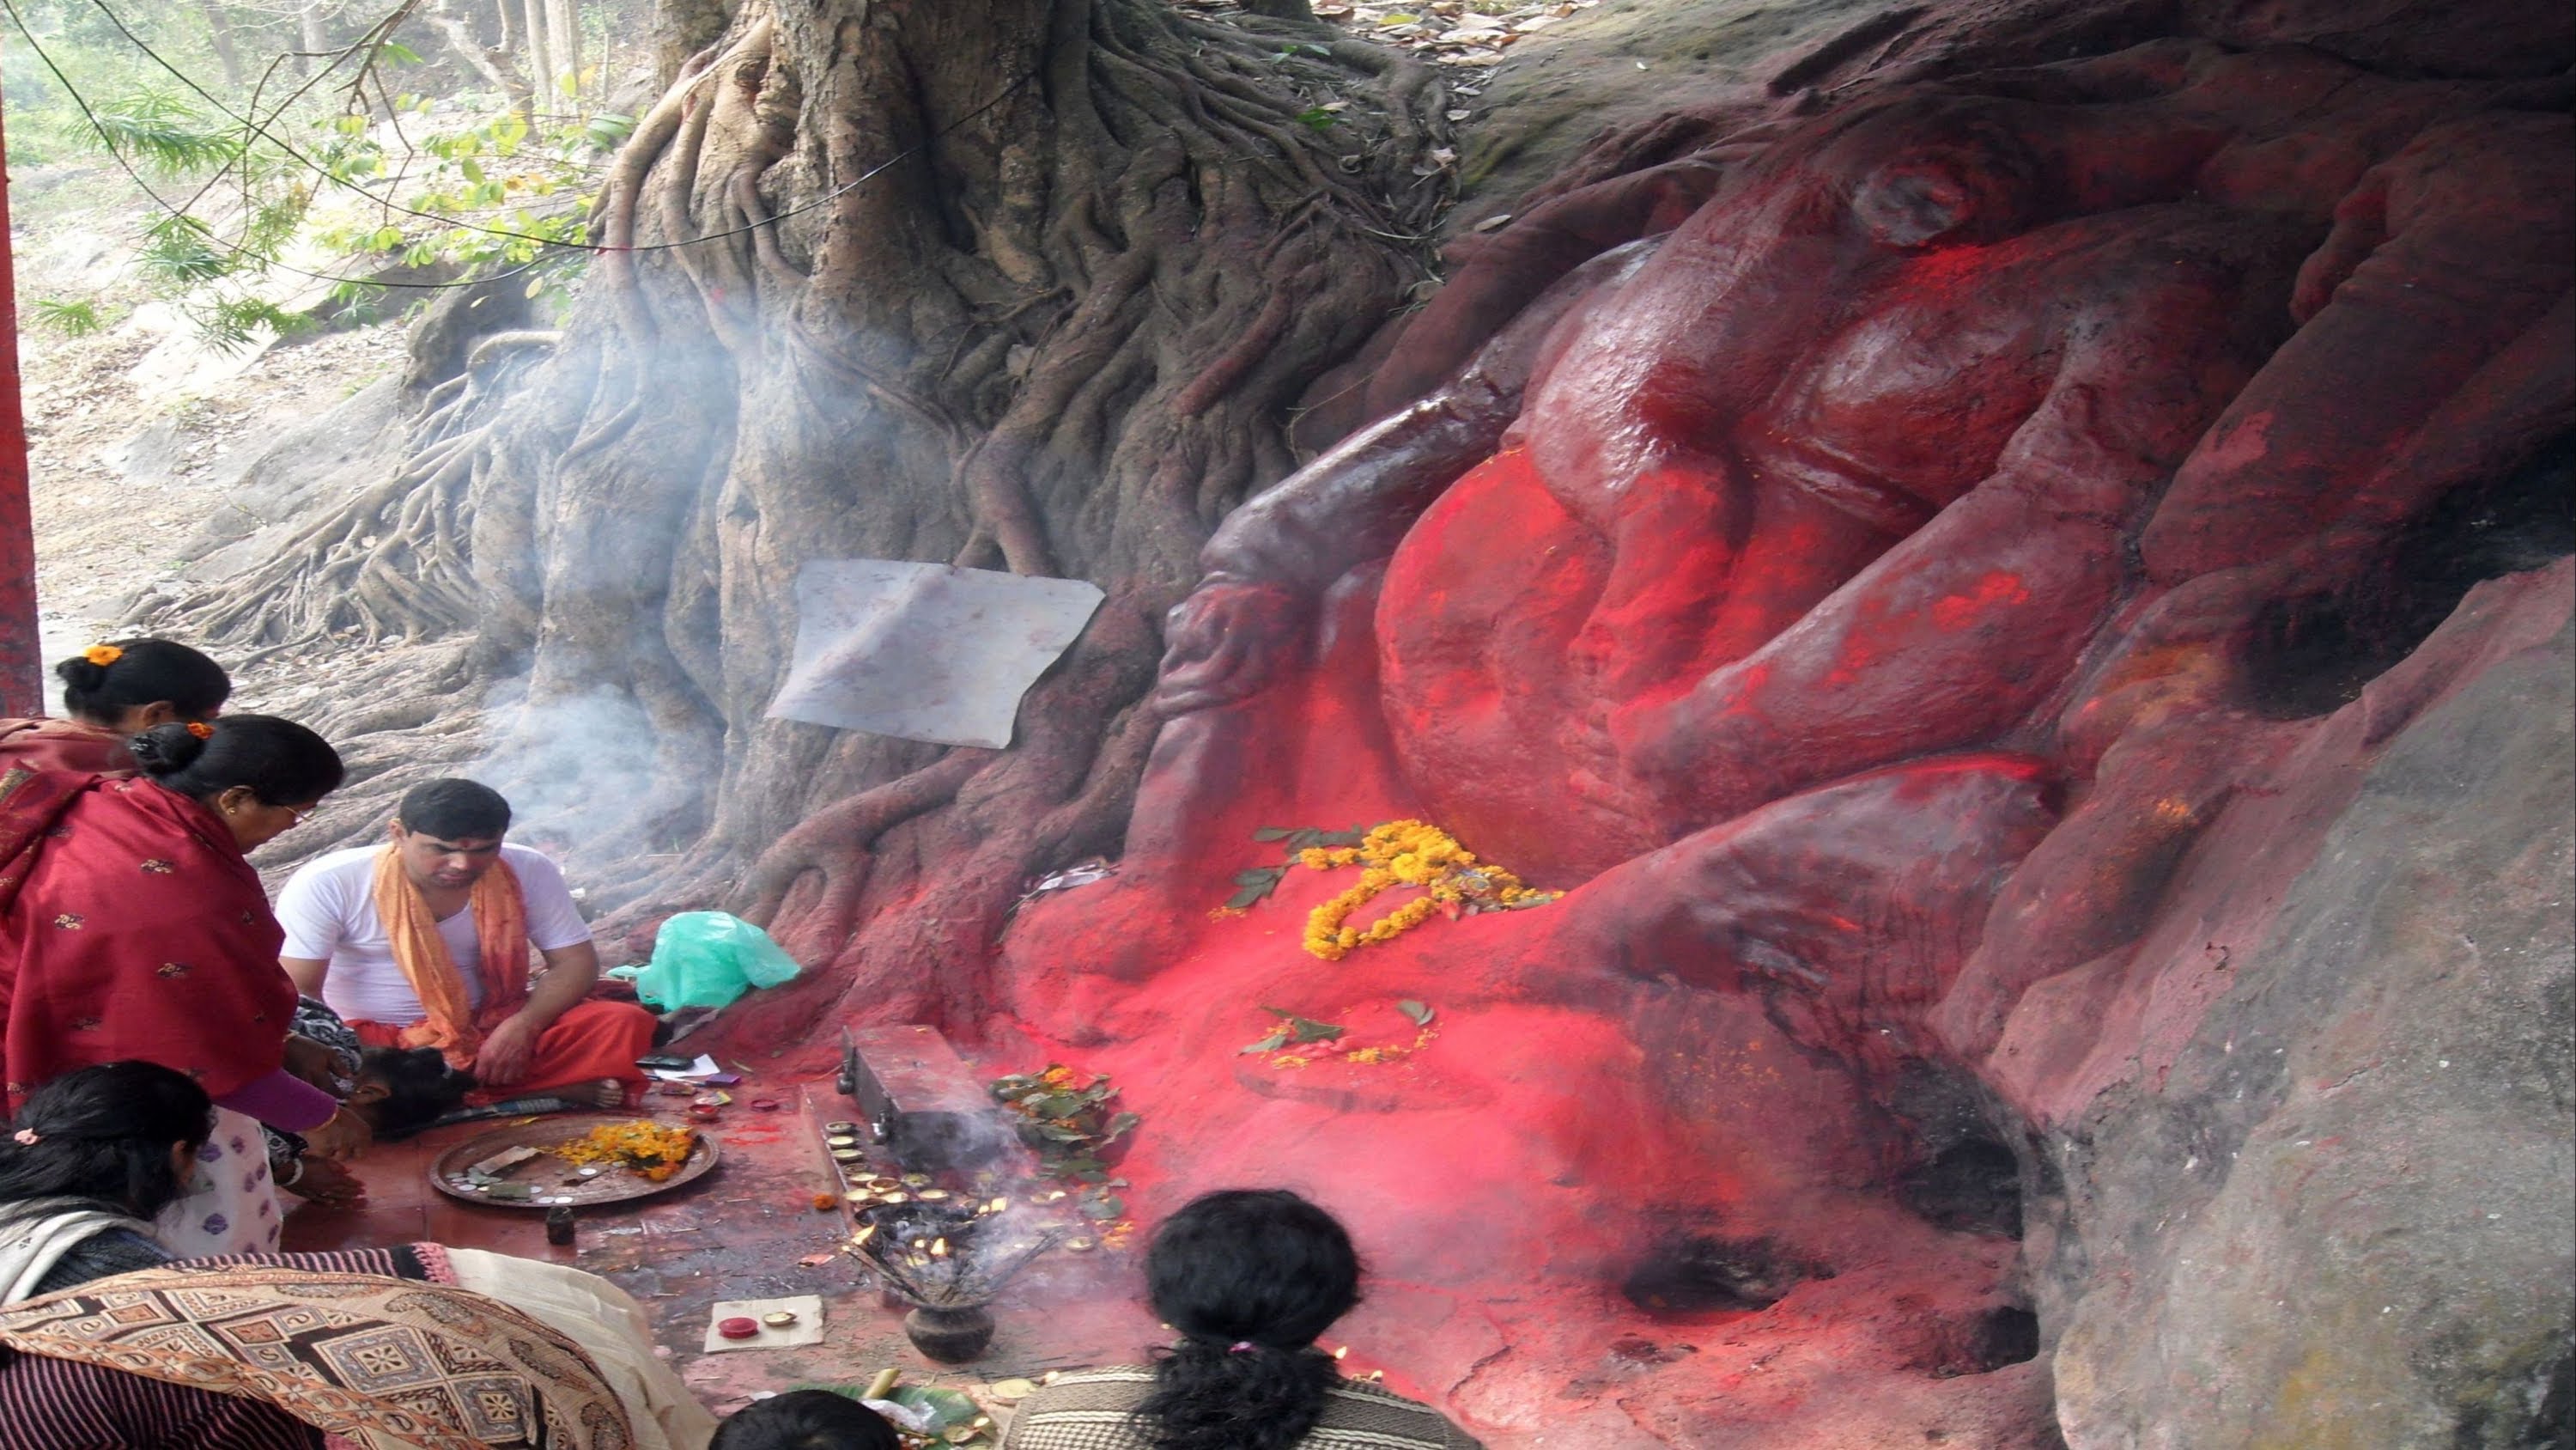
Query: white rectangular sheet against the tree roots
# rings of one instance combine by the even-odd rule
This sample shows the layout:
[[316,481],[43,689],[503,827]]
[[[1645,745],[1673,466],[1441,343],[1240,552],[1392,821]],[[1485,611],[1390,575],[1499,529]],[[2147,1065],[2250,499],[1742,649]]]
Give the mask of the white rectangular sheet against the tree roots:
[[1020,695],[1103,598],[1082,579],[814,559],[796,572],[796,654],[768,713],[1002,749]]

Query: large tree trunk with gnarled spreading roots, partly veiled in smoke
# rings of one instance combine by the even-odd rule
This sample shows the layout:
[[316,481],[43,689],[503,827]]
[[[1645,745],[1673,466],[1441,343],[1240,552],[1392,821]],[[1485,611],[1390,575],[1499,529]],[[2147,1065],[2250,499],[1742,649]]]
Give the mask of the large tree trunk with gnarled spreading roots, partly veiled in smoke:
[[[595,899],[732,904],[871,1010],[958,1020],[1025,878],[1121,847],[1208,531],[1430,276],[1440,116],[1319,26],[752,0],[618,157],[562,337],[487,343],[412,466],[193,623],[479,628],[474,672],[526,690],[492,773],[569,788],[523,814],[626,881]],[[1012,749],[940,749],[762,719],[809,559],[1108,603]]]

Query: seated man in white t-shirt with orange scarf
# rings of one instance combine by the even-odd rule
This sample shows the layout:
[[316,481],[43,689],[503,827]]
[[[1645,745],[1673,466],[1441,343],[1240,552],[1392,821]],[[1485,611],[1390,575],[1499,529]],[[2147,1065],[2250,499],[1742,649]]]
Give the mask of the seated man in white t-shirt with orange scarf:
[[[510,801],[474,780],[402,796],[389,845],[304,863],[278,894],[296,986],[368,1046],[440,1048],[479,1097],[613,1105],[644,1084],[652,1012],[590,999],[600,958],[564,873],[505,845]],[[528,948],[544,971],[528,976]]]

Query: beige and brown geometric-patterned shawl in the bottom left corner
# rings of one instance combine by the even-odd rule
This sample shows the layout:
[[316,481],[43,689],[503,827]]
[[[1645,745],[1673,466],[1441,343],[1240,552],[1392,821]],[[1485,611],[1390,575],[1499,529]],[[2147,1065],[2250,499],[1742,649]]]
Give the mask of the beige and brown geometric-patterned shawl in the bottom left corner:
[[90,1280],[0,1344],[270,1404],[368,1450],[631,1450],[580,1344],[459,1288],[278,1265]]

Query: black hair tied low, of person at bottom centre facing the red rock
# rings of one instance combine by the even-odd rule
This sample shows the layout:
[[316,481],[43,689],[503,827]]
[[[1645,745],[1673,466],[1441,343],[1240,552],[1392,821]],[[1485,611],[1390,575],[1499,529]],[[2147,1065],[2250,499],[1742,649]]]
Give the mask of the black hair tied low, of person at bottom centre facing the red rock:
[[1154,1450],[1291,1450],[1342,1378],[1314,1339],[1360,1303],[1360,1254],[1332,1213],[1285,1190],[1193,1198],[1144,1254],[1157,1352],[1136,1422]]

